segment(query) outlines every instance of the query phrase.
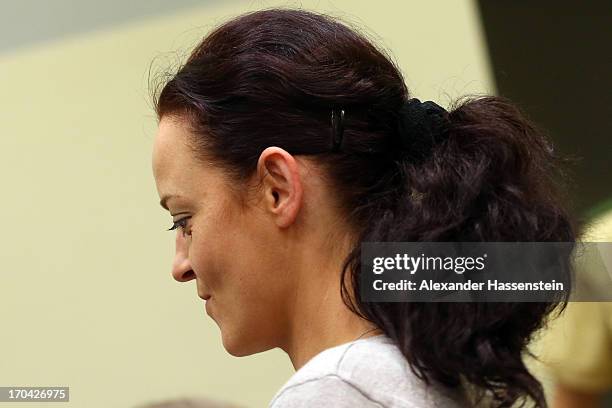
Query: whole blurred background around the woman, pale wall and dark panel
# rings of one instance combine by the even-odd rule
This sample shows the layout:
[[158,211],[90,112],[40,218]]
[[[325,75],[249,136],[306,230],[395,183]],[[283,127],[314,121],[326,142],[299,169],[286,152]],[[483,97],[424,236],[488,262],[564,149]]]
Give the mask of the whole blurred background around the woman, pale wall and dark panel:
[[172,279],[151,171],[150,78],[244,12],[302,7],[360,27],[421,99],[510,97],[575,159],[575,213],[612,208],[612,10],[566,3],[2,2],[0,386],[69,386],[68,407],[258,407],[292,374],[280,350],[228,355],[195,285]]

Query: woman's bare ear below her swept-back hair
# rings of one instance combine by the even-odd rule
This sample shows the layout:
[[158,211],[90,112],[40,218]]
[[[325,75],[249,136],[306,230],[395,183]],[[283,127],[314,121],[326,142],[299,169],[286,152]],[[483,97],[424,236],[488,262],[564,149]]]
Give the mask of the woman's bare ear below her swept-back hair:
[[304,194],[299,165],[280,147],[268,147],[259,156],[257,173],[262,180],[265,210],[286,228],[295,222]]

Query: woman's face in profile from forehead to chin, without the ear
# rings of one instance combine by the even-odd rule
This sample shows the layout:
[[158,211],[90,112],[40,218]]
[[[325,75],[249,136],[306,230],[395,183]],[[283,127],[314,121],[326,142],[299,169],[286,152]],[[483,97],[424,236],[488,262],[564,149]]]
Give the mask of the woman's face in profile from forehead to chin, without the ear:
[[181,119],[164,117],[153,148],[157,191],[181,225],[172,275],[195,280],[228,352],[276,347],[287,322],[283,302],[291,293],[282,237],[261,200],[241,206],[223,170],[197,160],[189,137]]

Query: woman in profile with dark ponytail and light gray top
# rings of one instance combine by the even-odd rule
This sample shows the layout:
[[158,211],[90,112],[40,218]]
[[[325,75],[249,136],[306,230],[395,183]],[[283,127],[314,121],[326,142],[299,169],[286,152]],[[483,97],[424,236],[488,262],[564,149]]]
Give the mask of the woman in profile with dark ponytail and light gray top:
[[521,354],[555,304],[358,295],[361,242],[574,239],[552,149],[509,101],[422,103],[359,33],[271,9],[209,34],[156,110],[172,274],[229,353],[287,352],[272,407],[546,405]]

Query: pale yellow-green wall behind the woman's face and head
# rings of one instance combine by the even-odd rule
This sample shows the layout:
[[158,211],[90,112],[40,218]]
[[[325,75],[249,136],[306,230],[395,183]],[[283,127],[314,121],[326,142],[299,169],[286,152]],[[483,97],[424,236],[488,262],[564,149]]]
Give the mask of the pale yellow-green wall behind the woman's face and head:
[[[299,5],[218,3],[0,54],[0,386],[70,386],[66,407],[183,395],[255,407],[289,377],[279,350],[229,356],[195,286],[170,276],[147,90],[154,59],[277,4]],[[301,4],[367,25],[418,97],[493,92],[471,1]]]

